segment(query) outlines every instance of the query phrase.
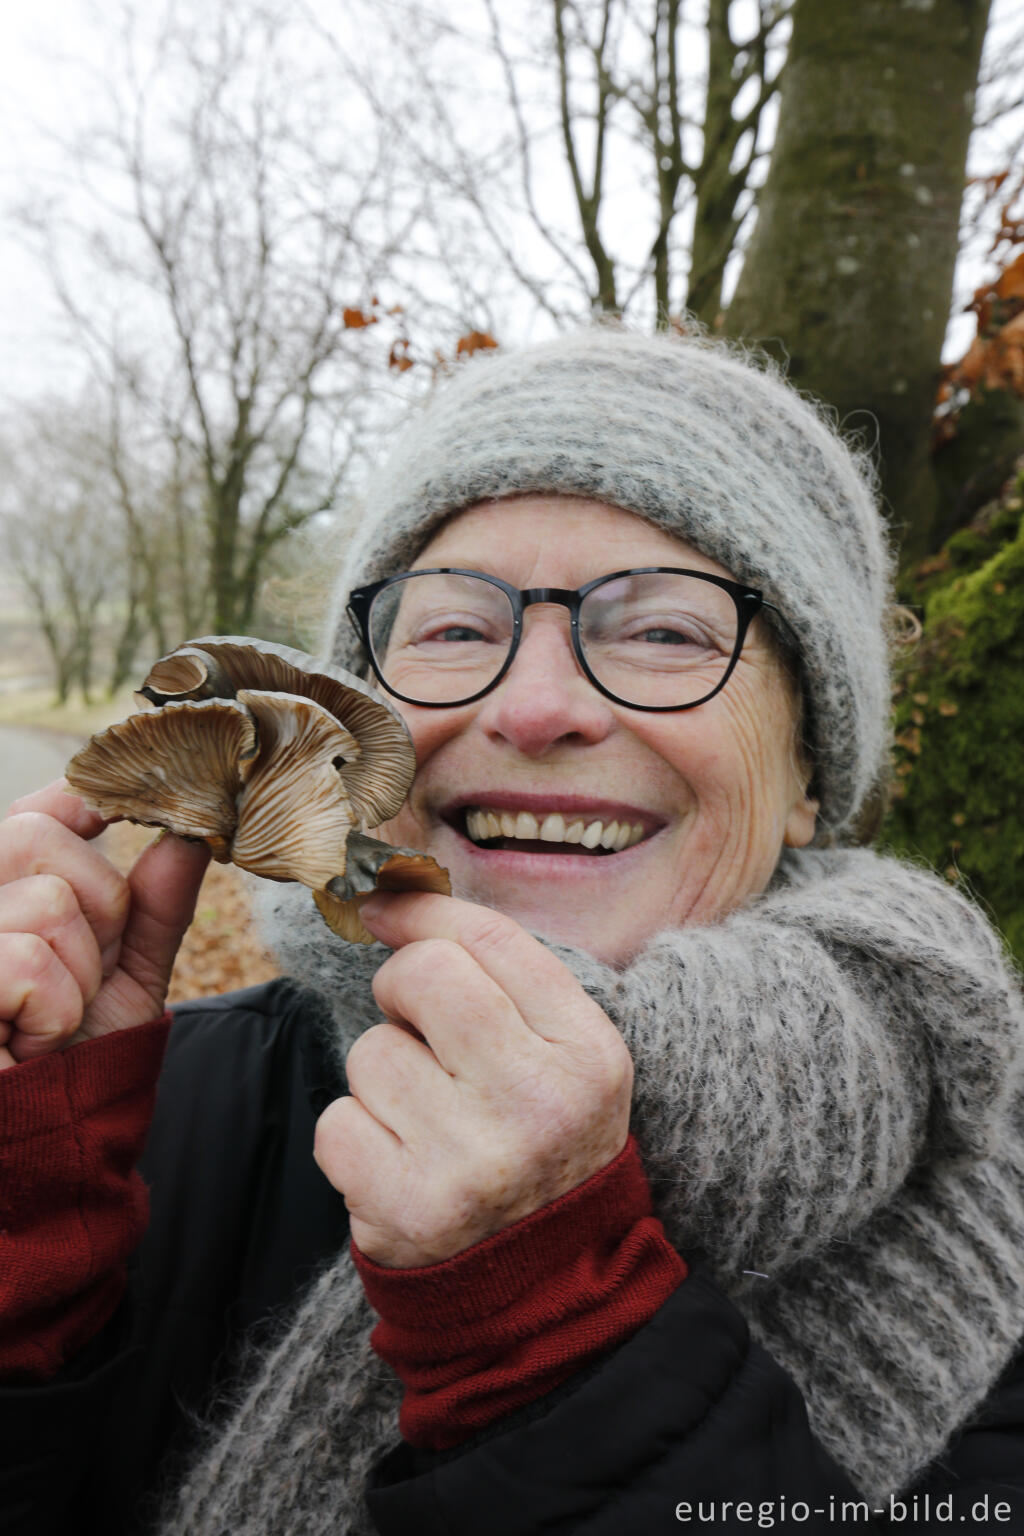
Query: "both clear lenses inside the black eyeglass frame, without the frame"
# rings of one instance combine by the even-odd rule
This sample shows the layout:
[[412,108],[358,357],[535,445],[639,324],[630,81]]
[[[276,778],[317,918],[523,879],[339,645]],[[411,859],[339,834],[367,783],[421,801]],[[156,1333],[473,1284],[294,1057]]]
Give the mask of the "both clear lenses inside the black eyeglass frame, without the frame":
[[[735,650],[737,608],[700,576],[616,576],[583,598],[579,633],[586,665],[617,699],[679,708],[720,685]],[[513,637],[508,594],[479,576],[411,573],[382,588],[370,608],[384,680],[421,703],[459,703],[487,688]]]

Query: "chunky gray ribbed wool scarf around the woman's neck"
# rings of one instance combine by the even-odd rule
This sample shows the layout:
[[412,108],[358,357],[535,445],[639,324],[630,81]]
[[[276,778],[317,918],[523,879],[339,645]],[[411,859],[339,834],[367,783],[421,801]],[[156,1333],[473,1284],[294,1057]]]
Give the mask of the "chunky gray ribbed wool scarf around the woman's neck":
[[[382,946],[264,902],[344,1057]],[[623,971],[551,946],[620,1028],[657,1213],[804,1393],[860,1491],[912,1482],[1024,1335],[1024,1008],[998,937],[935,876],[786,854],[769,892]],[[347,1253],[246,1373],[166,1513],[175,1536],[362,1536],[401,1387]]]

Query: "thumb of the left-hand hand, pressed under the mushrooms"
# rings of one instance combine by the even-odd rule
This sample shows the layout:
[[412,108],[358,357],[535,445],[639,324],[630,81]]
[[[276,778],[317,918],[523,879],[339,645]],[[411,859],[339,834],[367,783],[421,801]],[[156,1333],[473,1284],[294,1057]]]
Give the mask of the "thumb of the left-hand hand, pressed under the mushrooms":
[[206,843],[161,834],[143,849],[127,877],[130,912],[121,935],[120,969],[157,1011],[164,1005],[209,862]]

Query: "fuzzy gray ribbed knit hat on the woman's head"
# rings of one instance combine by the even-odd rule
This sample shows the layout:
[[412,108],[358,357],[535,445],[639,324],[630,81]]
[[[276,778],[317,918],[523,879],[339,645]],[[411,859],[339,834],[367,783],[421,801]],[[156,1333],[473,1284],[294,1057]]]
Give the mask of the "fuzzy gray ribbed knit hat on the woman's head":
[[639,513],[760,587],[800,642],[818,840],[847,831],[887,751],[890,554],[866,459],[771,366],[702,338],[594,326],[488,352],[439,386],[376,476],[329,651],[365,664],[347,596],[410,565],[454,511],[562,492]]

